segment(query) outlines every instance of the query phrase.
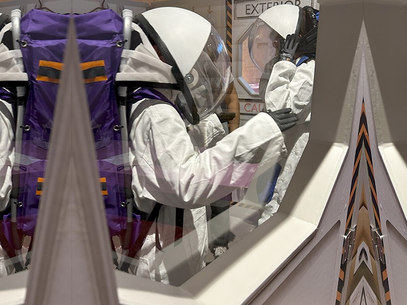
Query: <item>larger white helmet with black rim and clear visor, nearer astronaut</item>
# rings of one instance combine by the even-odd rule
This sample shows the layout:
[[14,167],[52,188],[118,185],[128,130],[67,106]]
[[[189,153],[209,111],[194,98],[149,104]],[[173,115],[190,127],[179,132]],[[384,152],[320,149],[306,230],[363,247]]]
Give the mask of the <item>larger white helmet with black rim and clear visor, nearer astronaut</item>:
[[176,103],[188,121],[197,124],[214,113],[231,74],[226,47],[211,23],[174,7],[149,10],[137,15],[135,22],[172,66],[181,90]]

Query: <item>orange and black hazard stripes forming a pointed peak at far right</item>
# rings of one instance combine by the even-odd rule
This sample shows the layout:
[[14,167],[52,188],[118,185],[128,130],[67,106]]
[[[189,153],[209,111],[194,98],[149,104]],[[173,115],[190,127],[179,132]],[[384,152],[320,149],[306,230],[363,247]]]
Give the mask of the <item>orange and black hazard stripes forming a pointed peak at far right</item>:
[[[375,225],[376,225],[376,228],[379,230],[379,233],[382,234],[382,225],[380,222],[379,206],[377,205],[376,185],[375,185],[375,180],[374,180],[373,161],[372,161],[372,155],[371,155],[371,149],[370,149],[370,138],[369,138],[369,131],[368,131],[368,127],[367,127],[367,118],[366,118],[364,100],[362,101],[362,110],[361,110],[360,120],[359,120],[359,132],[358,132],[358,141],[357,141],[357,146],[356,146],[356,151],[355,151],[355,161],[354,161],[354,167],[353,167],[351,194],[350,194],[349,204],[348,204],[348,208],[347,208],[347,216],[346,216],[346,226],[345,226],[346,229],[351,224],[352,216],[353,216],[353,212],[354,212],[356,186],[357,186],[357,181],[358,181],[360,160],[361,160],[361,156],[362,156],[363,147],[365,149],[365,155],[366,155],[366,161],[367,161],[367,172],[368,172],[368,176],[369,176],[369,185],[370,185],[370,193],[371,193],[371,198],[372,198],[372,203],[373,203],[373,214],[374,214]],[[346,232],[345,232],[345,234],[346,234]],[[345,241],[343,242],[343,246],[342,246],[342,254],[344,253],[344,246],[345,246]],[[383,281],[383,287],[384,287],[384,291],[385,291],[386,305],[391,305],[386,263],[383,263],[380,260],[379,260],[379,262],[380,262],[380,267],[381,267],[381,271],[382,271],[382,281]],[[346,265],[347,265],[347,260],[345,260],[340,265],[338,288],[336,291],[336,301],[335,301],[336,305],[340,305],[340,301],[342,298]]]

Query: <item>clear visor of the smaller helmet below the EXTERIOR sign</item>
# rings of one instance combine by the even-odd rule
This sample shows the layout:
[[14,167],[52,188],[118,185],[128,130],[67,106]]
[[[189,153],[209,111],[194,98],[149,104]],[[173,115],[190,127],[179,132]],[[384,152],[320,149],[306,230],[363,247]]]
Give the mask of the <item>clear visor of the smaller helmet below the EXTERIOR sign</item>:
[[249,33],[249,53],[254,65],[265,72],[266,65],[278,57],[282,37],[260,18],[253,23]]

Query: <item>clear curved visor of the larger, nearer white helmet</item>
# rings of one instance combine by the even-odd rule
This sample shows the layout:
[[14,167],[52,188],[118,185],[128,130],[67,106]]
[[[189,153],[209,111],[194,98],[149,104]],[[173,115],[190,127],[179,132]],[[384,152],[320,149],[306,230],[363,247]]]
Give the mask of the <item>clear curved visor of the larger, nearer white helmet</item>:
[[199,119],[206,118],[216,111],[226,96],[230,77],[230,59],[225,44],[212,27],[206,46],[191,71],[184,76],[192,98],[189,105],[195,109],[188,106],[187,93],[178,96],[181,103],[179,106],[189,112],[186,116],[191,123],[192,120],[188,116],[191,115],[192,118],[194,111],[197,112]]

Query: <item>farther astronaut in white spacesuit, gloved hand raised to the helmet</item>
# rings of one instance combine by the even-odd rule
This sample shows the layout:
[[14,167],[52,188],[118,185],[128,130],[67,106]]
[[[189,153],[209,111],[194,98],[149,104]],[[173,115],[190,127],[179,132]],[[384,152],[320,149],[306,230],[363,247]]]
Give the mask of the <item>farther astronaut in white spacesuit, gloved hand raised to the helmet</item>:
[[[296,41],[294,38],[299,37],[300,33],[304,31],[309,32],[308,30],[314,27],[315,23],[312,21],[316,17],[312,15],[313,13],[312,8],[309,10],[304,8],[303,12],[302,8],[292,5],[270,8],[254,22],[249,36],[249,48],[253,62],[265,74],[270,73],[267,86],[259,90],[264,94],[266,108],[272,111],[291,108],[293,113],[298,114],[299,117],[297,126],[284,133],[289,155],[279,162],[282,170],[277,178],[272,199],[265,205],[259,224],[265,222],[277,211],[308,142],[315,49],[311,48],[313,51],[311,55],[312,52],[307,46],[307,52],[302,53],[299,49],[304,47],[304,44],[300,43],[299,38]],[[302,34],[304,35],[304,33]],[[285,37],[287,39],[284,41]],[[293,46],[287,43],[289,39],[292,40],[294,47],[287,54],[284,53],[287,52],[284,47]],[[314,39],[316,40],[316,32]],[[261,52],[265,52],[265,48],[261,48],[260,52],[256,47],[258,44],[264,45],[265,41],[269,45],[266,52],[269,55],[266,58],[261,56],[263,54]],[[287,58],[284,55],[292,57]]]

